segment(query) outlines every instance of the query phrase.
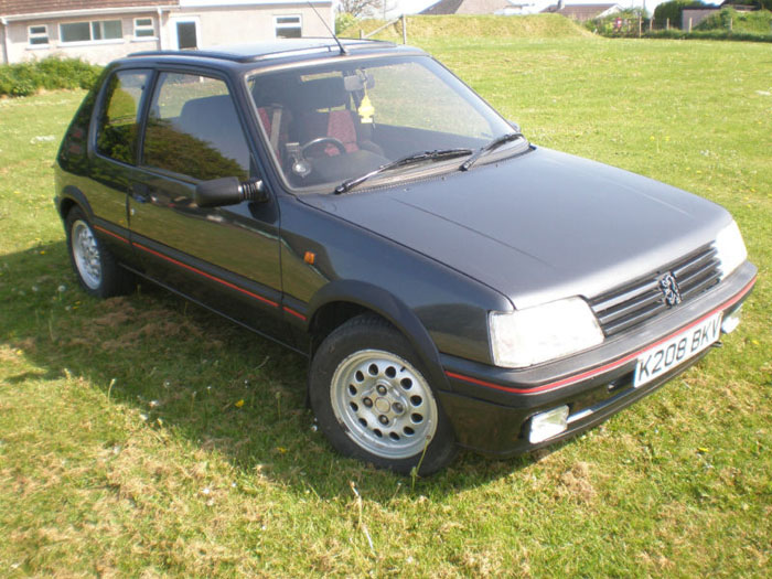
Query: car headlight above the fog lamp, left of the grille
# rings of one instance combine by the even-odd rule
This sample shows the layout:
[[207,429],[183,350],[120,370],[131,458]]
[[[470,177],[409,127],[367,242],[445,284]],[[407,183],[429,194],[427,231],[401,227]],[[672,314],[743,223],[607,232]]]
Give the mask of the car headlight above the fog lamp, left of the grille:
[[603,342],[603,331],[581,298],[515,312],[491,312],[493,363],[523,368]]

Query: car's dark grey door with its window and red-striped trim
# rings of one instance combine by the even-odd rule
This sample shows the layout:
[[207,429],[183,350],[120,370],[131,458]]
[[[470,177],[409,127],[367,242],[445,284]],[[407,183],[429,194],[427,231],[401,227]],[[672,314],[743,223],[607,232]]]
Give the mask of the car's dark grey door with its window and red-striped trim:
[[279,213],[274,200],[202,208],[201,181],[260,179],[224,77],[160,71],[146,107],[131,242],[146,272],[189,298],[283,339]]

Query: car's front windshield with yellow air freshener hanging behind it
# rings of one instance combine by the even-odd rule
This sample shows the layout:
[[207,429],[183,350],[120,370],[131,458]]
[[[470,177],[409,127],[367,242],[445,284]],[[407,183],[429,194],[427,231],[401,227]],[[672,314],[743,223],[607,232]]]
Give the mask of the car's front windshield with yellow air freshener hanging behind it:
[[[339,58],[259,73],[248,88],[274,160],[298,190],[332,191],[417,153],[465,149],[471,154],[513,130],[428,56]],[[425,154],[378,172],[377,179],[459,165],[463,158],[458,157]]]

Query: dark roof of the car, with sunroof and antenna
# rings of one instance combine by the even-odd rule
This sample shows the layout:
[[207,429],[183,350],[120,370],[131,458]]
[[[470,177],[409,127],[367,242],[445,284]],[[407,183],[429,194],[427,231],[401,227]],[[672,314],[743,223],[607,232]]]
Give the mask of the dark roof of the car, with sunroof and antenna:
[[425,54],[423,51],[412,46],[399,46],[393,42],[372,40],[341,39],[345,47],[343,54],[341,46],[331,37],[303,37],[278,39],[268,42],[253,44],[235,44],[213,46],[196,51],[149,51],[129,54],[121,62],[173,62],[178,64],[193,64],[206,62],[210,65],[218,65],[226,68],[243,68],[245,65],[255,68],[255,65],[275,66],[299,61],[318,60],[325,57],[345,57],[347,55],[376,55],[376,54]]

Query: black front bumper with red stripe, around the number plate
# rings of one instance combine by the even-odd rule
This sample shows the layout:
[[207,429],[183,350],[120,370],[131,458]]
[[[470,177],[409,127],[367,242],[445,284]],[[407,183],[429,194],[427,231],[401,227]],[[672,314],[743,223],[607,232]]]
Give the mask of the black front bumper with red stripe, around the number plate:
[[[591,428],[651,394],[698,362],[711,349],[639,388],[636,358],[646,349],[721,311],[737,310],[755,283],[746,261],[706,293],[602,345],[526,369],[507,369],[441,355],[450,389],[439,393],[462,447],[511,457],[553,444]],[[568,405],[568,429],[544,442],[528,442],[532,416]]]

